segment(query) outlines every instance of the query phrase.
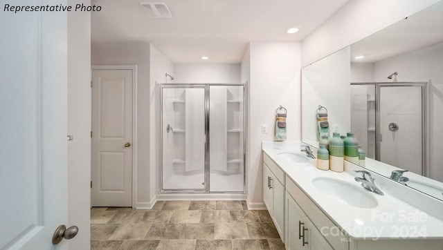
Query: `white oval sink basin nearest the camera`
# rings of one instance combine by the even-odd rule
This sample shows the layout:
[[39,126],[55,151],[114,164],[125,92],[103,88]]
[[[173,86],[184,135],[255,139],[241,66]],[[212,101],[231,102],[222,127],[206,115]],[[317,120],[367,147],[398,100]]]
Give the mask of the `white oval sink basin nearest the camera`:
[[314,186],[332,198],[339,200],[350,206],[357,206],[363,209],[372,209],[379,202],[363,186],[354,186],[343,180],[329,177],[316,177],[312,180]]

